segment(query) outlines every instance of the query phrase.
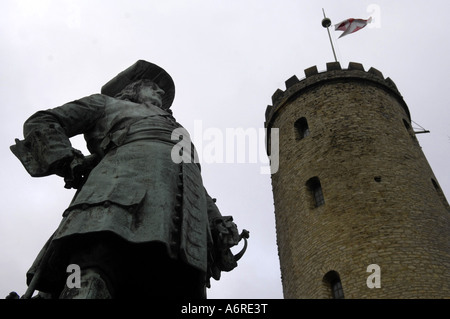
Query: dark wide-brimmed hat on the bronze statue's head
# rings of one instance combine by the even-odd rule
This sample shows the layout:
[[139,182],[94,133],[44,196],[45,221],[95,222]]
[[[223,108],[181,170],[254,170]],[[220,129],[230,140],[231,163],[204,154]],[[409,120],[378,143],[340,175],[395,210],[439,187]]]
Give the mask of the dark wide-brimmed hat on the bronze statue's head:
[[108,83],[102,86],[101,93],[114,97],[120,93],[128,84],[142,80],[149,79],[158,84],[164,90],[163,105],[164,108],[169,108],[175,98],[175,84],[172,77],[160,66],[139,60],[126,70],[117,74]]

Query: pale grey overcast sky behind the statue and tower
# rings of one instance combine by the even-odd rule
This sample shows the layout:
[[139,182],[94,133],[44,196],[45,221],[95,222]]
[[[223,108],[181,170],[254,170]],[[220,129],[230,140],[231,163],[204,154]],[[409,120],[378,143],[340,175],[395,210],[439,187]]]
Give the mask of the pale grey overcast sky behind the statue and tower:
[[[273,196],[262,144],[253,163],[207,146],[222,133],[264,127],[264,112],[292,75],[333,61],[322,8],[333,24],[373,17],[337,40],[338,59],[375,67],[397,85],[419,143],[450,199],[450,3],[301,0],[2,0],[0,11],[0,298],[26,290],[25,273],[61,220],[74,191],[56,176],[32,178],[9,146],[34,112],[93,93],[138,59],[175,81],[176,119],[204,155],[204,184],[223,215],[250,231],[239,266],[212,280],[209,298],[282,298]],[[418,127],[414,125],[414,127]],[[229,141],[228,141],[229,142]],[[73,141],[87,152],[83,139]],[[227,154],[228,151],[228,154]],[[227,160],[228,155],[228,160]],[[237,250],[240,247],[237,248]]]

